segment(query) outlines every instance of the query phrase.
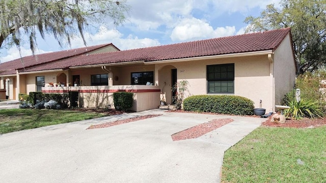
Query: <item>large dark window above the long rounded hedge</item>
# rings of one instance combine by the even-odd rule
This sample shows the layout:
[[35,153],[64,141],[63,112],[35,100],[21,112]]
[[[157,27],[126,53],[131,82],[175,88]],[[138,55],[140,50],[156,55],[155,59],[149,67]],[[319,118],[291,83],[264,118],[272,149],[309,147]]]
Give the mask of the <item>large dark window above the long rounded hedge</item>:
[[234,64],[207,66],[207,93],[234,93]]

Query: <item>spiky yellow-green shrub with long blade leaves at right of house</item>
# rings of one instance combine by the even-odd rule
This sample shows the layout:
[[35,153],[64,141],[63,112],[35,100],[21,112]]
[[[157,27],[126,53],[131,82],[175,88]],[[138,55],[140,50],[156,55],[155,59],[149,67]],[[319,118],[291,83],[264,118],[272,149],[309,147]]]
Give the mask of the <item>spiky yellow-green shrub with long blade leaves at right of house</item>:
[[318,102],[302,99],[300,102],[290,101],[290,109],[284,110],[284,115],[301,119],[303,117],[322,117],[323,110]]

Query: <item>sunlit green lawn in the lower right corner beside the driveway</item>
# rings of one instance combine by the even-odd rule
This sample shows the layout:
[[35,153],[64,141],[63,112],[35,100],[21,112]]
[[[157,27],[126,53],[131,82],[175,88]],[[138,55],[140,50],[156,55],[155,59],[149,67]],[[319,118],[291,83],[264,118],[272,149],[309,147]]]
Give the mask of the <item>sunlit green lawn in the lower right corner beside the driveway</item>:
[[260,127],[228,149],[222,182],[326,182],[326,127]]

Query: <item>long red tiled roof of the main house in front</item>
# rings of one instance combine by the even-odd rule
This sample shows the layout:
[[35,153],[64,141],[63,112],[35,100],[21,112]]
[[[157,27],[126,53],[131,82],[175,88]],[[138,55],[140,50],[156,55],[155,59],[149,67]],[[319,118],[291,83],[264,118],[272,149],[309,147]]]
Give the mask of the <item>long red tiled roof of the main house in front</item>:
[[[202,41],[98,53],[72,57],[20,72],[68,69],[74,66],[115,64],[135,61],[153,62],[200,56],[275,50],[290,33],[290,28]],[[177,62],[177,61],[176,61]]]

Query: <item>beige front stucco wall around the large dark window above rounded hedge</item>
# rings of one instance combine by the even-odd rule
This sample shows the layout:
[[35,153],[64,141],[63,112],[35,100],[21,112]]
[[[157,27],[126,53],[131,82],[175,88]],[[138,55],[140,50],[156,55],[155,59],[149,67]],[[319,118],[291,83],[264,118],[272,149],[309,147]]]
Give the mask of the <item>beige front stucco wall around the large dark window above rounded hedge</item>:
[[[228,95],[247,97],[253,100],[256,108],[260,107],[260,100],[262,100],[262,107],[268,111],[271,108],[271,89],[267,55],[158,64],[156,67],[158,70],[168,65],[177,68],[177,80],[189,82],[191,95],[205,95],[207,94],[206,66],[232,63],[235,69],[234,94]],[[159,82],[159,86],[161,84]]]

